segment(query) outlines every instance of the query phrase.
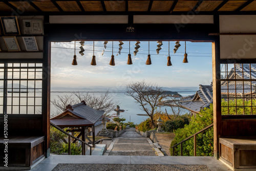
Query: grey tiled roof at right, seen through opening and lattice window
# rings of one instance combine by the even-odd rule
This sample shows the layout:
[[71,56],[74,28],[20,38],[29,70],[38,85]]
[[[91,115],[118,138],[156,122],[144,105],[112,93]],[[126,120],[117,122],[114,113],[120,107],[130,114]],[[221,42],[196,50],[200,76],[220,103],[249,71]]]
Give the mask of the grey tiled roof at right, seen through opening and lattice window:
[[[251,67],[251,69],[250,69]],[[236,71],[236,72],[235,72]],[[254,73],[255,72],[255,73]],[[228,79],[235,79],[237,76],[239,79],[256,79],[256,68],[254,66],[249,66],[244,64],[236,65],[236,70],[234,68],[230,69]],[[236,74],[236,77],[234,75]],[[229,95],[250,95],[256,93],[256,81],[250,82],[239,82],[236,83],[234,81],[224,81],[221,85],[221,94],[229,94]],[[210,103],[212,103],[212,86],[203,86],[199,85],[199,90],[195,95],[183,97],[180,100],[180,105],[182,108],[185,108],[189,111],[193,111],[199,113],[201,109],[207,108]]]

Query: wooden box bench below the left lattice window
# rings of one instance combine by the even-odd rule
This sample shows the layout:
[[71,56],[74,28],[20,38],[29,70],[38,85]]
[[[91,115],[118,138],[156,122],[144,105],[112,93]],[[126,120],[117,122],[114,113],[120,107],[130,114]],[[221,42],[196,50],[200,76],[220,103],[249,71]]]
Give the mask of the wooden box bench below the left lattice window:
[[[0,137],[0,157],[3,159],[5,153],[4,137]],[[8,167],[26,166],[30,167],[38,160],[45,157],[44,136],[9,136],[8,137]],[[0,166],[4,166],[1,163]]]

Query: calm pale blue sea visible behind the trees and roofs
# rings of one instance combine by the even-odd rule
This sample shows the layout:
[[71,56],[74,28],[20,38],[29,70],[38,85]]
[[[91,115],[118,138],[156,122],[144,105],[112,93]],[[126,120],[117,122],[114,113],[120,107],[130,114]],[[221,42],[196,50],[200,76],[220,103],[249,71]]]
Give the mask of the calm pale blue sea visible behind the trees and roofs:
[[[51,92],[51,100],[57,99],[57,96],[71,95],[73,92]],[[87,93],[87,92],[82,92]],[[106,92],[89,92],[91,95],[95,95],[96,97],[104,94]],[[191,92],[178,92],[181,96],[186,97],[189,95],[193,95],[196,91]],[[120,113],[121,118],[125,118],[124,122],[134,122],[135,124],[139,124],[142,121],[146,120],[148,116],[140,116],[138,114],[146,114],[145,111],[140,109],[140,106],[131,96],[125,95],[125,92],[109,92],[109,95],[116,101],[118,101],[120,110],[124,110],[124,112]],[[169,114],[171,114],[170,108],[167,106],[157,107],[157,111],[165,112],[165,109]],[[51,116],[56,115],[57,108],[51,104]],[[184,111],[182,114],[189,113],[189,111]],[[115,111],[110,114],[116,114]]]

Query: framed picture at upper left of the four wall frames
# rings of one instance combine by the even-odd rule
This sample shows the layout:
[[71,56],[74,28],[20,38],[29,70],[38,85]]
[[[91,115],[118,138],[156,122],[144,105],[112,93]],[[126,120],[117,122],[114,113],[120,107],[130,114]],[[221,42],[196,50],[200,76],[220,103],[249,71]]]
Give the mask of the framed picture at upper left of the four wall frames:
[[4,35],[20,35],[17,16],[0,17]]

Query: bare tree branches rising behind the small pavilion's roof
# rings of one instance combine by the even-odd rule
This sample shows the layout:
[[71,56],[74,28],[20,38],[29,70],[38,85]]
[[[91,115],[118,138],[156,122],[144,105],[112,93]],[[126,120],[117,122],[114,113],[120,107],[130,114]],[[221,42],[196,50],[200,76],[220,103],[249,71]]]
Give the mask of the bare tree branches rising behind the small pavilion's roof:
[[[73,95],[75,97],[73,97]],[[115,101],[115,99],[111,97],[109,91],[100,96],[96,96],[95,94],[91,95],[89,92],[74,92],[71,95],[57,96],[57,98],[51,100],[51,103],[58,109],[57,113],[61,113],[65,111],[68,104],[73,105],[82,100],[93,109],[105,111],[104,115],[108,115],[119,103],[119,101]]]

